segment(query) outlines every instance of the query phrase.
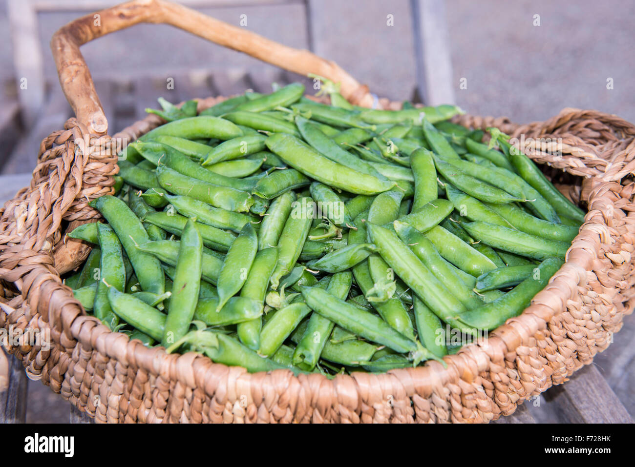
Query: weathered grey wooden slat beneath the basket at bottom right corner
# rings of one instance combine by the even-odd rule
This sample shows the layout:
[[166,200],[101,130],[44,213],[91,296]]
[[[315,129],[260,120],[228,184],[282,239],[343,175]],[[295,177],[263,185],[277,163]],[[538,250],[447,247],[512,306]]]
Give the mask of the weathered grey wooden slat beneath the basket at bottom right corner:
[[633,419],[594,365],[545,392],[559,423],[633,423]]

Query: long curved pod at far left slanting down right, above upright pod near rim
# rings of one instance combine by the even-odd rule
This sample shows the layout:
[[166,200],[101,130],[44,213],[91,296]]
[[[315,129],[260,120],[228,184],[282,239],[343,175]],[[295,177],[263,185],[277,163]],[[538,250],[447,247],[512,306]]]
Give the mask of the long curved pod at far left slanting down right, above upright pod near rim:
[[[177,120],[177,122],[182,120]],[[138,244],[149,242],[147,232],[126,203],[114,196],[106,195],[90,202],[90,206],[97,209],[115,231],[124,247],[141,288],[147,292],[163,294],[165,276],[161,263],[152,254],[140,251]]]

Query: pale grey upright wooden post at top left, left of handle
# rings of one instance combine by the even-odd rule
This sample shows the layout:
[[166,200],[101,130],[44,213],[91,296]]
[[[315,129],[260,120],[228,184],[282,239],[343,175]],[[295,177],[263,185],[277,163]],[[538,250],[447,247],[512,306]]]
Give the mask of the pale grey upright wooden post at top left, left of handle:
[[[22,121],[31,126],[44,103],[44,65],[39,36],[37,13],[30,1],[8,0],[7,13],[11,25],[13,63],[18,87],[18,100],[22,109]],[[21,88],[26,80],[26,89]]]

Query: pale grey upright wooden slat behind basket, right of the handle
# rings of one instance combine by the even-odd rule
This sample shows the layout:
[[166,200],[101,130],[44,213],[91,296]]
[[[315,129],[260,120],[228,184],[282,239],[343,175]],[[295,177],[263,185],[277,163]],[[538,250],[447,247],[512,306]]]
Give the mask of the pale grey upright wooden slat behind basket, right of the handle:
[[426,105],[455,102],[445,0],[411,0],[417,88]]

